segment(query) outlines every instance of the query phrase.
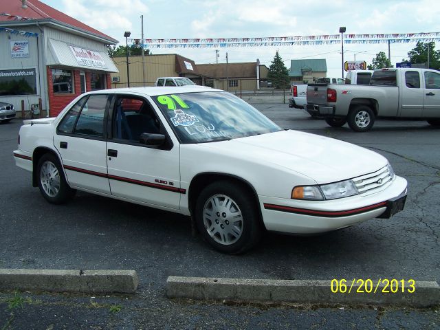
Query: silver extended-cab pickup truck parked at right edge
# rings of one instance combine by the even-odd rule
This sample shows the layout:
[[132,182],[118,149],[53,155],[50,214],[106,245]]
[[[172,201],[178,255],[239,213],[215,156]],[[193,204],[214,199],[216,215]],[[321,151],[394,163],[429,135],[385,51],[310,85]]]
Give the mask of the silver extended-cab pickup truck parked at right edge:
[[378,117],[423,119],[440,126],[440,72],[431,69],[378,69],[370,85],[310,84],[307,112],[330,126],[348,122],[369,131]]

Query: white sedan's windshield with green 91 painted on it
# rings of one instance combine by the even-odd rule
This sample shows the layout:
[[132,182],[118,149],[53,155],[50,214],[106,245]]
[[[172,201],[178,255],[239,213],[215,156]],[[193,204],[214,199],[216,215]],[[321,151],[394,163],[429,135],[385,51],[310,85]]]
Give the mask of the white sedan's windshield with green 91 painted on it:
[[245,101],[221,91],[153,96],[181,143],[230,140],[281,131]]

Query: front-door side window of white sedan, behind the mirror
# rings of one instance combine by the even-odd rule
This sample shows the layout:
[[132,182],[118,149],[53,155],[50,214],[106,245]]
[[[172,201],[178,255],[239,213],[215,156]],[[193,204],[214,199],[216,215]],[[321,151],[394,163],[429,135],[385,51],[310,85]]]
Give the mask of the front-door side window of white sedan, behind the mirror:
[[113,137],[139,142],[142,133],[160,131],[159,120],[153,108],[142,98],[118,98],[115,110]]

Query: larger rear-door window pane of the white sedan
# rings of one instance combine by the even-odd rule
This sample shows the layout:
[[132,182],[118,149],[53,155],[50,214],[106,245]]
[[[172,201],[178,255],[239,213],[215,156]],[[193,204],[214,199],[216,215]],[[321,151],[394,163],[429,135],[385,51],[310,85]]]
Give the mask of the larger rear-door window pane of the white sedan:
[[81,110],[74,133],[104,137],[104,113],[107,95],[91,95]]

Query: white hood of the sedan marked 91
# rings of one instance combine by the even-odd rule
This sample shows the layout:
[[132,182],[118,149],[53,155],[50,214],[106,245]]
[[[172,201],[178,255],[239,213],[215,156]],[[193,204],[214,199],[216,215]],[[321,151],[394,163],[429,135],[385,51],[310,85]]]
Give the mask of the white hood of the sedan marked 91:
[[386,166],[382,155],[366,148],[299,131],[279,131],[223,142],[199,144],[224,155],[254,159],[260,164],[288,168],[327,184],[358,177]]

